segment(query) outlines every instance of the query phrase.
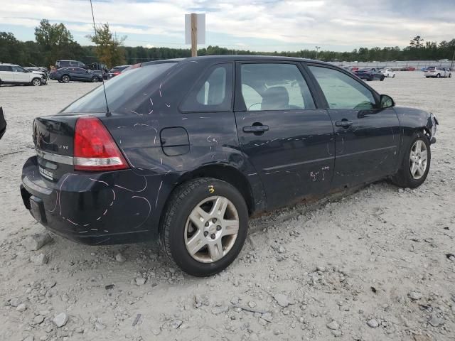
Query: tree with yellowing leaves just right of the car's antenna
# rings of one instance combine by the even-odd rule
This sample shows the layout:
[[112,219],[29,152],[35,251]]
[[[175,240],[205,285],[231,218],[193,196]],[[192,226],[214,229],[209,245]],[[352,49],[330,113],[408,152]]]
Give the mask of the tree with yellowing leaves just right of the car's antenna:
[[[117,38],[112,34],[109,23],[102,23],[95,28],[95,35],[87,36],[97,45],[95,51],[100,63],[108,67],[125,63],[125,50],[123,42],[127,36]],[[145,60],[141,60],[145,61]]]

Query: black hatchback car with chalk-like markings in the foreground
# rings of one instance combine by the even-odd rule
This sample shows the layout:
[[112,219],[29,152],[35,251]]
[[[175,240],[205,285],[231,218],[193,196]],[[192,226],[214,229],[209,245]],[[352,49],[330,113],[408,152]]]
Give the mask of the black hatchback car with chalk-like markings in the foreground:
[[162,60],[105,89],[35,119],[23,203],[76,242],[157,238],[194,276],[236,258],[252,215],[381,179],[417,188],[436,141],[432,113],[316,60]]

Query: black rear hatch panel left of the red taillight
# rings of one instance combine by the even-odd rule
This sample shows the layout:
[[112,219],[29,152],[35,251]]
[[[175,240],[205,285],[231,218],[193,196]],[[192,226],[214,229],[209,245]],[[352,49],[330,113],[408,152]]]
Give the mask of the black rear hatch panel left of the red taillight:
[[33,121],[33,143],[38,171],[43,178],[58,181],[72,172],[76,115],[38,117]]

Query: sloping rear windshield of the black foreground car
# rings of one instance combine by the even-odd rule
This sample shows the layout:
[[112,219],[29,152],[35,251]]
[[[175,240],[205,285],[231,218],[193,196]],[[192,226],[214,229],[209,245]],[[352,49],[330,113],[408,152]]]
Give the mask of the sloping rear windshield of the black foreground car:
[[[122,73],[105,83],[110,112],[131,113],[144,102],[143,93],[157,77],[176,63],[159,63]],[[148,100],[149,97],[147,97]],[[62,112],[106,112],[105,92],[97,87]]]

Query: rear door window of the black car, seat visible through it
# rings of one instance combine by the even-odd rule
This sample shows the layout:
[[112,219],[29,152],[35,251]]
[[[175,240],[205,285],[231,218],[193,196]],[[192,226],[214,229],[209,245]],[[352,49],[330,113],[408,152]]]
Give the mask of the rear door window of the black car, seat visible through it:
[[240,78],[247,111],[315,109],[309,87],[294,64],[242,64]]

